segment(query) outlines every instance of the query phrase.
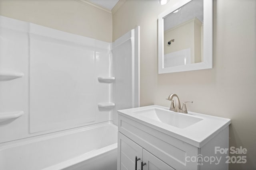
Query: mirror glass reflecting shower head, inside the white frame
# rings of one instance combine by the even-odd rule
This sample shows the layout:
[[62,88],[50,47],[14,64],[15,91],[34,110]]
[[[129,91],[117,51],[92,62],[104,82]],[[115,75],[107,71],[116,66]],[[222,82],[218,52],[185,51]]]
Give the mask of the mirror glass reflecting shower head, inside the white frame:
[[164,68],[203,62],[203,0],[192,0],[164,17]]

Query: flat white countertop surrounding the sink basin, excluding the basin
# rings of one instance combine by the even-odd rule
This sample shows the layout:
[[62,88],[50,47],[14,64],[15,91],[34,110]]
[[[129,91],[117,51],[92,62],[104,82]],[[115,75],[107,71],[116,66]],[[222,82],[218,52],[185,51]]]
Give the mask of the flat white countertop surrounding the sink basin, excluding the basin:
[[188,114],[174,112],[176,114],[182,114],[202,119],[201,121],[198,121],[197,123],[194,123],[193,125],[190,125],[186,128],[178,128],[172,125],[168,125],[166,123],[156,121],[154,119],[140,116],[138,115],[138,113],[136,113],[136,111],[143,111],[147,109],[162,109],[165,111],[169,111],[168,107],[152,105],[118,110],[118,114],[143,123],[144,125],[152,127],[158,131],[166,133],[172,137],[180,139],[181,141],[189,143],[190,145],[194,145],[198,148],[201,148],[204,144],[210,141],[210,139],[212,139],[220,131],[228,127],[228,125],[230,125],[231,123],[230,119],[222,117],[204,115],[190,111],[188,111]]

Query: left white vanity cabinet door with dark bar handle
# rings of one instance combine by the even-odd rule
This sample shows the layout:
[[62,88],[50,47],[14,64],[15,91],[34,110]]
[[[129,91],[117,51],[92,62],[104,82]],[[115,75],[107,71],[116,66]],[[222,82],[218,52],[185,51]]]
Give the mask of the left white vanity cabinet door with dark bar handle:
[[117,170],[135,170],[135,156],[137,156],[137,170],[140,170],[142,147],[118,132]]

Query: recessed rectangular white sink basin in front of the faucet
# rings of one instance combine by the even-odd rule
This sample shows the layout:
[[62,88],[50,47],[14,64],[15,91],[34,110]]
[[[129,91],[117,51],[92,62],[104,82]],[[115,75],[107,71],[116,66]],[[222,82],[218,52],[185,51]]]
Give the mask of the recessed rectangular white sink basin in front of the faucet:
[[149,119],[166,123],[181,129],[194,125],[202,120],[197,117],[191,117],[190,115],[186,115],[184,113],[176,113],[162,109],[146,109],[142,111],[134,111],[134,113],[137,113],[140,117],[147,117]]

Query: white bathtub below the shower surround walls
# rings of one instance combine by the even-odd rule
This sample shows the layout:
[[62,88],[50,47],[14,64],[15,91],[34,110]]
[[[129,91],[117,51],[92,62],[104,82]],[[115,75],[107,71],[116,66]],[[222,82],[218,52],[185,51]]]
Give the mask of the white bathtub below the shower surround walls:
[[116,170],[117,127],[100,123],[0,145],[0,170]]

